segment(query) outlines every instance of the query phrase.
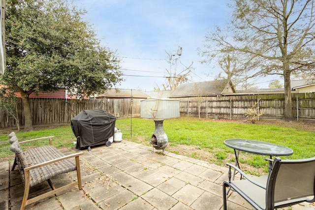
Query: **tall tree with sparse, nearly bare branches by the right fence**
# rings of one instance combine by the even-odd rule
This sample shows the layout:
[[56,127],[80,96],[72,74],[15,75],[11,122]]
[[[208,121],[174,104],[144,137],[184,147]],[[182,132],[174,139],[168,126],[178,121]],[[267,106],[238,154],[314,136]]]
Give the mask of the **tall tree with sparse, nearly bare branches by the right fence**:
[[252,65],[252,76],[283,76],[284,120],[293,120],[290,78],[315,72],[314,3],[231,0],[231,22],[207,34],[203,55],[215,60],[221,54],[238,54],[247,66]]

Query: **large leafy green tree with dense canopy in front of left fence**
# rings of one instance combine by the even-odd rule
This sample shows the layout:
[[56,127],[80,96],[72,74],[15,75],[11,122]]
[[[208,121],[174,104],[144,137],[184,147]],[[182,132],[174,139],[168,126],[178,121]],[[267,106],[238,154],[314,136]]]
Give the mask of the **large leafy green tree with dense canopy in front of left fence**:
[[25,130],[32,130],[29,95],[61,87],[80,95],[120,83],[115,52],[100,45],[85,11],[66,0],[7,0],[7,68],[1,83],[20,92]]

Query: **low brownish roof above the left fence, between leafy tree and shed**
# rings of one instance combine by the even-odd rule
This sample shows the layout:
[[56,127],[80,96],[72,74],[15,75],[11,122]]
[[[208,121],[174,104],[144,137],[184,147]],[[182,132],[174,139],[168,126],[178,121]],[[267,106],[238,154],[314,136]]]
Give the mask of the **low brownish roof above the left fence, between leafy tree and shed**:
[[150,98],[149,95],[140,90],[130,89],[110,89],[103,94],[95,95],[95,98],[130,98],[131,95],[133,98]]

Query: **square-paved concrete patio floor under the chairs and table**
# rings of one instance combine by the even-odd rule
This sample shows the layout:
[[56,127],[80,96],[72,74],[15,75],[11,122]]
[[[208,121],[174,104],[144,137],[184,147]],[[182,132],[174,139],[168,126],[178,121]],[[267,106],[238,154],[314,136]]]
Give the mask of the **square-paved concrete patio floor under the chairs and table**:
[[[69,154],[73,148],[63,149]],[[227,167],[164,152],[128,141],[100,146],[80,156],[83,190],[78,187],[41,200],[27,210],[221,210],[222,182]],[[156,150],[155,150],[156,151]],[[17,169],[0,163],[0,210],[19,210],[24,185]],[[75,173],[55,177],[56,187],[76,179]],[[30,195],[50,190],[47,182],[31,187]],[[237,193],[228,197],[229,210],[251,210]],[[302,203],[286,210],[315,210]]]

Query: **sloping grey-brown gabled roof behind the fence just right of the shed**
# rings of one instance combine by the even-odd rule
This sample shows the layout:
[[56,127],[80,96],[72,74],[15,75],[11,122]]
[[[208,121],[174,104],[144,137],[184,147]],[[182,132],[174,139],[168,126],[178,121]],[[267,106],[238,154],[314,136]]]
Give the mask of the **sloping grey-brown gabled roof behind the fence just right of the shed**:
[[214,80],[198,83],[185,83],[181,84],[170,94],[172,97],[190,97],[190,96],[209,96],[221,95],[223,91],[230,92],[228,80]]

